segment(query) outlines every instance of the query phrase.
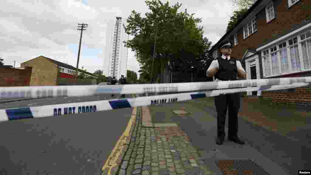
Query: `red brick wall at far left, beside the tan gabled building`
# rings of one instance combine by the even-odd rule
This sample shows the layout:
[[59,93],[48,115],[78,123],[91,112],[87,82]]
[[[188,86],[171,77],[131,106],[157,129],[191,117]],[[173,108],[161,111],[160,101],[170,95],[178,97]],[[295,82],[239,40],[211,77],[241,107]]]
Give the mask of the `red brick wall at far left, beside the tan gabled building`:
[[1,68],[0,86],[29,86],[31,67],[25,69]]

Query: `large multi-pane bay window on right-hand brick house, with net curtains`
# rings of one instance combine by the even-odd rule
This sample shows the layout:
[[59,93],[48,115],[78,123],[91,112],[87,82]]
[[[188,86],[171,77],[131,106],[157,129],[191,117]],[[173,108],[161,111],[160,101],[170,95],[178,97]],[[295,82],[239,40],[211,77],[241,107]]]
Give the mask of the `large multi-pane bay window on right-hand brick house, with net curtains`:
[[262,50],[264,77],[311,71],[311,30]]

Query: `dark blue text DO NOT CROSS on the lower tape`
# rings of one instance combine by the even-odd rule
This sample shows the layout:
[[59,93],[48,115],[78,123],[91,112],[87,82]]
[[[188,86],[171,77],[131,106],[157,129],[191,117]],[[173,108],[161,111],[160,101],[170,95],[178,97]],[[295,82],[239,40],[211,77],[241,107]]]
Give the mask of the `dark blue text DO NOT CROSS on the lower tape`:
[[64,107],[64,108],[54,108],[54,116],[61,116],[66,114],[84,113],[84,112],[95,112],[97,111],[96,105],[93,106],[79,106],[78,111],[76,107]]

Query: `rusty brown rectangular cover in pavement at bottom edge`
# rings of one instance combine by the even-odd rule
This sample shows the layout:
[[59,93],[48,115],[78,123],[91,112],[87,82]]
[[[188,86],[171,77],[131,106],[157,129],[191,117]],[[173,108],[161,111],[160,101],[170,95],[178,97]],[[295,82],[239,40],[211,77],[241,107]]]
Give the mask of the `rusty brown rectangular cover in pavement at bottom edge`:
[[269,175],[252,160],[218,160],[216,165],[224,175]]

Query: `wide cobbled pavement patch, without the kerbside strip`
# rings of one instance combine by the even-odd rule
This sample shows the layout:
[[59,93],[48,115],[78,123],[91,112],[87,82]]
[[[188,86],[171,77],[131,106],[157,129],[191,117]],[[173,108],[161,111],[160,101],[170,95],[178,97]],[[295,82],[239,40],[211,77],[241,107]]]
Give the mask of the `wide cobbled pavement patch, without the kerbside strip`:
[[211,174],[179,127],[142,128],[136,163],[143,175]]

